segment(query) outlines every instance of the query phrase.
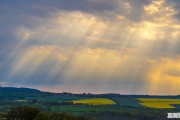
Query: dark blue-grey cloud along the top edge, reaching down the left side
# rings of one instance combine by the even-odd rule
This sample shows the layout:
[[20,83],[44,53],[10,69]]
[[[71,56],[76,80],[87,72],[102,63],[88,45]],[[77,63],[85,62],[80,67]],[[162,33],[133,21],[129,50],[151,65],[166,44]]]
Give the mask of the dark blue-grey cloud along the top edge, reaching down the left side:
[[[14,31],[19,26],[33,28],[46,20],[55,11],[81,11],[98,17],[113,19],[119,15],[131,20],[140,20],[143,6],[151,0],[1,0],[0,1],[0,41],[16,42]],[[132,12],[122,8],[124,2],[129,2]],[[40,20],[41,19],[41,20]],[[9,44],[9,43],[8,43]]]

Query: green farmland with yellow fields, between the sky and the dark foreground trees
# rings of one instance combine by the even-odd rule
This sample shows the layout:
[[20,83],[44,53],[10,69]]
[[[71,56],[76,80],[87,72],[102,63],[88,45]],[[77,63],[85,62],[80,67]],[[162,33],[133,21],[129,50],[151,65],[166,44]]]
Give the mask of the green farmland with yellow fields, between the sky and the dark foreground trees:
[[[46,112],[95,116],[98,120],[122,116],[139,119],[166,118],[168,112],[179,112],[180,96],[142,96],[120,94],[48,93],[27,88],[0,88],[0,113],[18,106],[35,107]],[[116,116],[116,117],[115,117]],[[158,118],[157,118],[158,119]]]

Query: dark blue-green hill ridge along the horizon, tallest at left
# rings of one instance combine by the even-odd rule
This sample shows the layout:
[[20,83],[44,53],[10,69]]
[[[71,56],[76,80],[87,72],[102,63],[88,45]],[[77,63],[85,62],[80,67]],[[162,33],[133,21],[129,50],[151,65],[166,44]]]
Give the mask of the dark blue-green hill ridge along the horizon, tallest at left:
[[76,96],[76,97],[123,97],[123,98],[180,98],[180,96],[151,96],[151,95],[122,95],[115,93],[107,93],[107,94],[73,94],[73,93],[51,93],[51,92],[43,92],[37,89],[32,88],[16,88],[16,87],[0,87],[0,100],[16,100],[16,99],[32,99],[32,98],[46,98],[50,96]]

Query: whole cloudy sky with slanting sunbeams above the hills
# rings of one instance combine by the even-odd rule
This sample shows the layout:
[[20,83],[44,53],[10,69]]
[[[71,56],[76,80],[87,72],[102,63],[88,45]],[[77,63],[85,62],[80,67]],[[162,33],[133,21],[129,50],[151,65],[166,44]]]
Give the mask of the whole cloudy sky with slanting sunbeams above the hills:
[[180,1],[0,0],[0,86],[180,94]]

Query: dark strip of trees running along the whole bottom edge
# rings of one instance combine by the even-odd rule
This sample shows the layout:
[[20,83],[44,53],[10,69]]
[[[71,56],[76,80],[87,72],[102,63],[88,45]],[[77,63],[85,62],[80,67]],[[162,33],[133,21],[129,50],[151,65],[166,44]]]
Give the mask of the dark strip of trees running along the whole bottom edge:
[[[49,112],[31,106],[10,108],[0,113],[0,120],[165,120],[167,111],[94,111],[74,115],[66,112]],[[89,116],[89,117],[88,117]]]

